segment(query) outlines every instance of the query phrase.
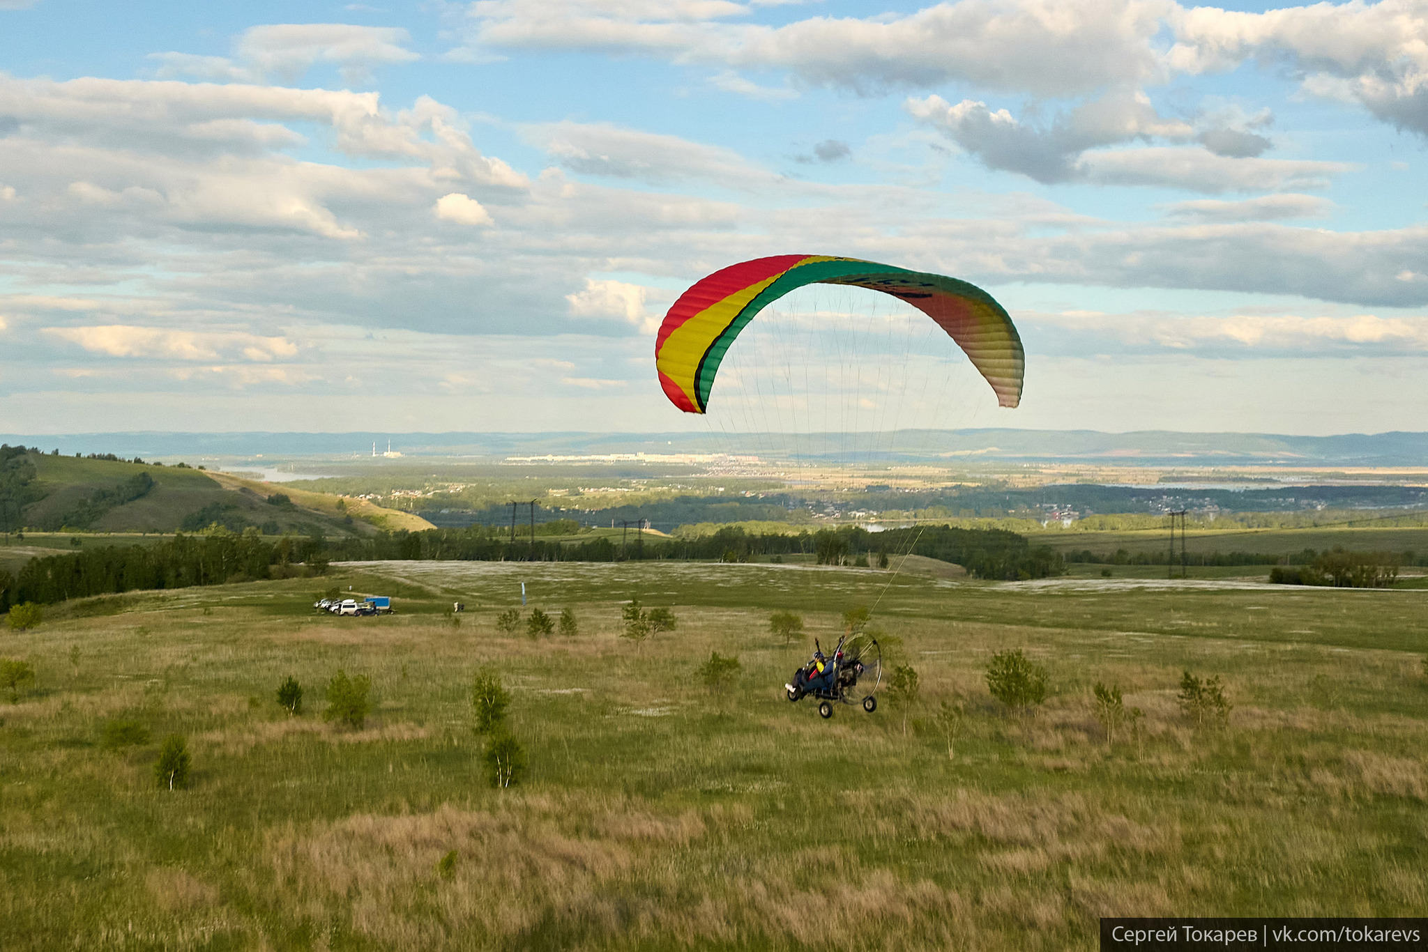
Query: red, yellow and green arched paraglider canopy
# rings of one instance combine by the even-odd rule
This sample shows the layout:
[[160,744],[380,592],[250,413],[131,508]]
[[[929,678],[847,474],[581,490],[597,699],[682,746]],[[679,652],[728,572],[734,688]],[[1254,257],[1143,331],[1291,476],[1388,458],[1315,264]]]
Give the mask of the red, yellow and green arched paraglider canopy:
[[805,254],[734,264],[680,295],[654,343],[660,385],[670,402],[684,412],[703,414],[720,363],[738,333],[764,307],[807,284],[848,284],[907,301],[957,341],[991,384],[1000,405],[1021,402],[1021,337],[987,291],[942,274]]

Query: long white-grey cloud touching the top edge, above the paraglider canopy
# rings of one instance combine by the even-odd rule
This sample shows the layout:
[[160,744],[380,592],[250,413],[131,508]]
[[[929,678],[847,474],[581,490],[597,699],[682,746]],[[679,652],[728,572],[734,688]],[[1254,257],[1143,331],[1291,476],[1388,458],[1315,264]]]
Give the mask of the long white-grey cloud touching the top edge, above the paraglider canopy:
[[1161,74],[1151,40],[1161,0],[958,0],[907,16],[813,17],[781,27],[728,23],[735,3],[478,0],[468,46],[647,54],[733,70],[781,69],[855,91],[971,83],[1082,96]]

